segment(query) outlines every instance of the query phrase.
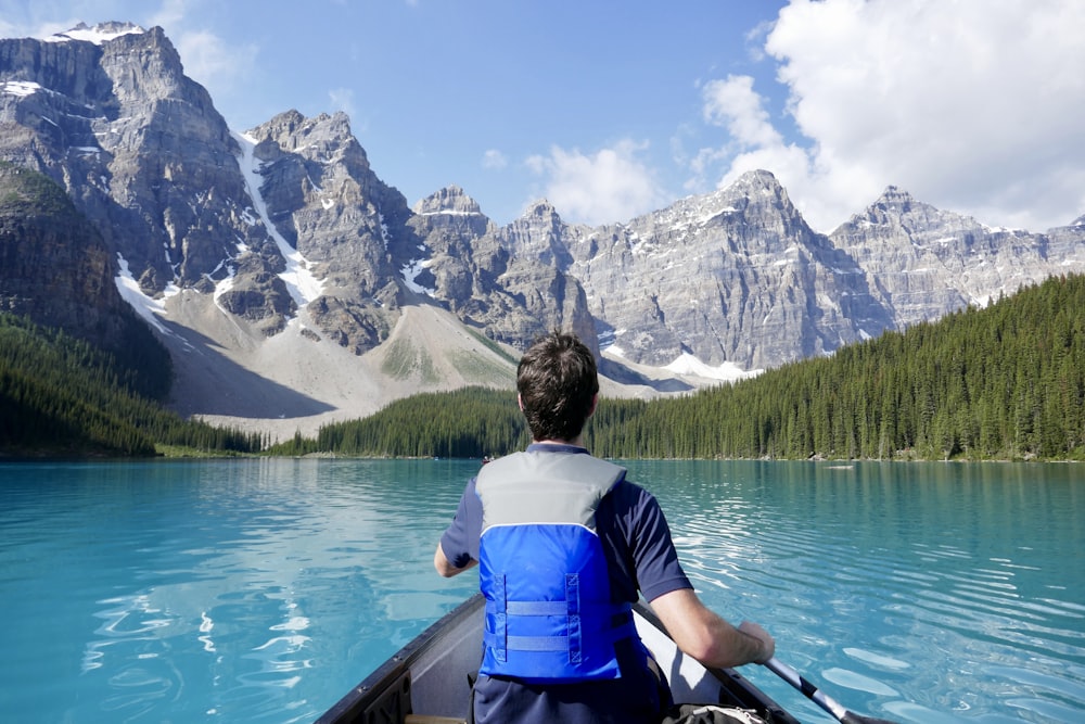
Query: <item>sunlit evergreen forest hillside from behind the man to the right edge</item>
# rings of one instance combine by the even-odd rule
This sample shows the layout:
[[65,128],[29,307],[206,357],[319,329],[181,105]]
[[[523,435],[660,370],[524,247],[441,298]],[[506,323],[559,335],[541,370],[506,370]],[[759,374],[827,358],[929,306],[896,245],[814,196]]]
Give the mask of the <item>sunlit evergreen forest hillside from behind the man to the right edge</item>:
[[[886,333],[681,398],[604,399],[592,452],[615,458],[1085,459],[1085,277]],[[283,454],[501,455],[515,395],[420,395]]]

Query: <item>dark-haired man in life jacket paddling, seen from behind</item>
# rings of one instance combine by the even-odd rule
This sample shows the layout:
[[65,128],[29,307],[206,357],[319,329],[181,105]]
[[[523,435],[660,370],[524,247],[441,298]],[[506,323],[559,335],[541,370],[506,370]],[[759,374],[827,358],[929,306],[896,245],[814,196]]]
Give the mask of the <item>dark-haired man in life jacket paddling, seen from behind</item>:
[[638,589],[687,655],[767,661],[768,633],[736,628],[698,598],[655,498],[584,448],[599,393],[587,346],[542,338],[520,360],[516,390],[534,442],[468,483],[433,561],[444,576],[481,563],[475,721],[659,722],[669,691],[633,627]]

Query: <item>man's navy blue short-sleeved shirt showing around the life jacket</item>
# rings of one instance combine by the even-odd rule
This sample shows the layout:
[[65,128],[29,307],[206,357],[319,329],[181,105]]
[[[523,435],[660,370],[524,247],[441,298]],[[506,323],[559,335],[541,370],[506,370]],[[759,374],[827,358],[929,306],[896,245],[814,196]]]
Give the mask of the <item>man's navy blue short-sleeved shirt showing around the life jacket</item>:
[[[571,445],[533,444],[529,453],[587,455]],[[478,560],[482,501],[472,479],[460,498],[451,525],[441,537],[449,562],[463,568]],[[692,585],[678,562],[663,510],[655,497],[634,483],[622,481],[607,494],[596,511],[596,531],[603,545],[615,602],[637,600],[638,592],[651,601],[663,594]],[[529,685],[513,678],[480,676],[474,688],[474,712],[486,722],[659,722],[668,703],[660,690],[641,648],[631,640],[616,647],[622,677],[577,684]]]

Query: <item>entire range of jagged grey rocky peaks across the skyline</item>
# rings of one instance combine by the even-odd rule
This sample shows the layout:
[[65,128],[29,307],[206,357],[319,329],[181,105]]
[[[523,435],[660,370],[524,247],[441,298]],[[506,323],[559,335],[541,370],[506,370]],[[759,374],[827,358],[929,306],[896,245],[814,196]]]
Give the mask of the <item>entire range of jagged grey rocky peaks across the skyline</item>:
[[[194,338],[214,338],[206,314],[252,335],[220,346],[302,334],[365,355],[432,305],[520,350],[563,328],[612,360],[755,369],[1085,271],[1085,217],[991,229],[890,188],[825,236],[767,172],[603,227],[545,201],[498,227],[457,187],[409,207],[345,115],[231,132],[162,29],[125,24],[0,40],[0,160],[53,179],[97,231],[66,267],[80,284],[20,288],[9,305],[35,297],[75,323],[127,268]],[[46,246],[7,249],[10,279]]]

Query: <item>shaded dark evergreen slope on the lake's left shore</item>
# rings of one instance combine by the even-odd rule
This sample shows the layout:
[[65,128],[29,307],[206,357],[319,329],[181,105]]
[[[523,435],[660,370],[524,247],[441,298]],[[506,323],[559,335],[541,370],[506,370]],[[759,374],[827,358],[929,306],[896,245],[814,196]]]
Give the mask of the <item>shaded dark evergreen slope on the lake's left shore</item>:
[[0,314],[0,455],[148,456],[156,445],[203,453],[260,449],[259,435],[184,421],[140,394],[148,374],[127,363],[144,356],[120,360],[61,331]]

